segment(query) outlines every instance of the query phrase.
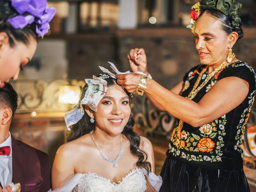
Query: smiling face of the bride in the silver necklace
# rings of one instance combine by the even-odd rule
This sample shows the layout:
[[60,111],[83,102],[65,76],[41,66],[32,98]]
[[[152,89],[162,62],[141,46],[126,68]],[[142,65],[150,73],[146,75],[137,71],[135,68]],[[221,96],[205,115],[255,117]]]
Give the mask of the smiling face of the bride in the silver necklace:
[[129,97],[119,85],[112,85],[100,103],[98,112],[94,114],[96,128],[108,134],[120,134],[126,126],[131,114]]

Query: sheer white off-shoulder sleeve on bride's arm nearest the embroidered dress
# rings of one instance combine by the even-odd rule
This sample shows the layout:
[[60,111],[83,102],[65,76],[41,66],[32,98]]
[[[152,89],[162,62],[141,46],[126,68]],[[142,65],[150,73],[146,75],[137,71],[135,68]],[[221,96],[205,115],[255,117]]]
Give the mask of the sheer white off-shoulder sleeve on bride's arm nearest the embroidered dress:
[[148,184],[150,185],[152,190],[154,192],[159,192],[159,190],[162,186],[162,183],[163,183],[162,177],[160,175],[157,176],[153,172],[150,172],[148,174],[147,170],[144,168],[142,169],[142,171],[143,171],[144,175],[146,176]]

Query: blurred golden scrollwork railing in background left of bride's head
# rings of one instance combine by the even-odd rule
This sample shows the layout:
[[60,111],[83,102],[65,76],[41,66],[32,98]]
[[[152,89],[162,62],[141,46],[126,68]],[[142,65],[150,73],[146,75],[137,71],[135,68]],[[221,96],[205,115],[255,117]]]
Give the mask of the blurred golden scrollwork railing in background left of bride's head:
[[84,86],[79,80],[18,80],[12,82],[18,93],[17,113],[32,111],[66,111],[69,105],[58,103],[58,91],[62,85]]

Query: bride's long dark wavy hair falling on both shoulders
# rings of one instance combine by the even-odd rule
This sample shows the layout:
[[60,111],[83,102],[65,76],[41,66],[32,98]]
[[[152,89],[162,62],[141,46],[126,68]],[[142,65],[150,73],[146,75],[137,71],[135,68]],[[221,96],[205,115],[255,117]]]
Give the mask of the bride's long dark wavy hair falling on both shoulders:
[[[104,80],[107,81],[107,87],[117,84],[116,79],[113,78],[104,78]],[[86,84],[80,95],[80,100],[84,98],[84,94],[87,88],[88,85]],[[128,93],[125,89],[124,91],[129,96],[129,101],[131,101],[132,95]],[[146,161],[148,159],[148,155],[146,154],[146,152],[140,149],[140,135],[133,131],[133,127],[134,118],[132,117],[132,115],[130,115],[129,120],[126,126],[124,127],[124,130],[122,131],[122,134],[124,134],[130,141],[131,154],[138,158],[136,165],[138,167],[145,168],[149,173],[151,171],[151,164],[150,162]],[[95,130],[95,122],[91,123],[90,116],[88,116],[88,114],[85,112],[82,119],[78,121],[76,124],[74,124],[71,128],[71,131],[67,133],[66,141],[69,142],[75,140],[85,134],[90,133],[92,130]]]

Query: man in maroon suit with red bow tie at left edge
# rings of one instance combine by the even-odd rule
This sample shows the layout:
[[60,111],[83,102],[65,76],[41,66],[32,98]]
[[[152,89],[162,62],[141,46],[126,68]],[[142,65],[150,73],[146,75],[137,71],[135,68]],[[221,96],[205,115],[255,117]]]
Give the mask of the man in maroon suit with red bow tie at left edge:
[[0,88],[0,187],[20,183],[21,192],[50,189],[50,161],[46,153],[19,140],[9,132],[18,106],[18,95],[7,83]]

